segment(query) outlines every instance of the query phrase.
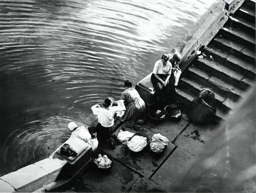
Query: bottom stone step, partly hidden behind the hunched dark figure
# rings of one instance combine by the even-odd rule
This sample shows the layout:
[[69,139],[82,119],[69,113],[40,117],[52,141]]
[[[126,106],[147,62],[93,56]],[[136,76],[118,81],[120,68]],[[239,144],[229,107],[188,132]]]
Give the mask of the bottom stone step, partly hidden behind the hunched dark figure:
[[[181,88],[177,88],[178,93],[173,96],[173,98],[188,107],[190,106],[191,101],[196,97],[196,95],[191,95],[191,93],[188,93],[186,91],[186,88],[184,90]],[[216,109],[216,115],[214,116],[213,120],[216,122],[222,122],[225,120],[226,113],[222,112],[219,108]]]

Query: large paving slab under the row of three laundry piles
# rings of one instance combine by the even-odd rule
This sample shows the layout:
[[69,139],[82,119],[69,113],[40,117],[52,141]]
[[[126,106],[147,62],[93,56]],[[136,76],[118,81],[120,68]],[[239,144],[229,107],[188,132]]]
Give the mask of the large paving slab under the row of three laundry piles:
[[[126,124],[122,125],[120,129],[133,133],[144,133],[149,138],[157,133],[167,137],[169,139],[169,143],[167,149],[161,155],[152,154],[149,152],[148,147],[146,147],[142,152],[134,154],[128,150],[126,145],[123,144],[116,145],[115,150],[112,150],[108,143],[101,145],[99,148],[122,162],[124,165],[131,167],[141,175],[149,177],[172,152],[175,145],[173,145],[171,142],[180,134],[187,124],[187,121],[181,119],[179,122],[172,122],[170,120],[164,120],[163,122],[157,123],[149,122],[145,126],[136,125],[131,127]],[[120,132],[120,129],[116,131],[116,136]]]

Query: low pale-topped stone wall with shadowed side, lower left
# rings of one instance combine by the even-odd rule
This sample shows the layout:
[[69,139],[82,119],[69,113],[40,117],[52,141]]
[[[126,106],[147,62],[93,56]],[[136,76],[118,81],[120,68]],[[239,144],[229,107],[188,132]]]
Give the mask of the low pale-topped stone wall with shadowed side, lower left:
[[73,163],[56,151],[49,158],[1,176],[0,192],[44,192],[69,182],[90,166],[92,147],[88,144]]

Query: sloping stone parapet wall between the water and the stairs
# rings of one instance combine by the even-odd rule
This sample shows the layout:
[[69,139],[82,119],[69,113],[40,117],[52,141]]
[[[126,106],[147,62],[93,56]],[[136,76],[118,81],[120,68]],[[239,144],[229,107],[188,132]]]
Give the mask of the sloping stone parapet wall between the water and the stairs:
[[[201,45],[207,45],[228,20],[228,15],[233,14],[244,0],[216,0],[209,9],[198,19],[196,24],[171,50],[171,53],[180,53],[180,69],[184,71],[188,64],[196,57],[196,50]],[[152,69],[153,71],[153,69]],[[148,106],[154,103],[154,87],[150,75],[146,76],[135,86],[141,98]]]

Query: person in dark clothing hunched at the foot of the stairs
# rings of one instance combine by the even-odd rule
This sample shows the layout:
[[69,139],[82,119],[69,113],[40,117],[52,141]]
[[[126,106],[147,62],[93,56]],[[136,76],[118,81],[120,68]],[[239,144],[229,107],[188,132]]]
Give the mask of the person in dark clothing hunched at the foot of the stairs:
[[216,102],[214,93],[209,88],[203,88],[199,97],[191,101],[188,116],[192,122],[205,124],[211,121],[215,114]]

